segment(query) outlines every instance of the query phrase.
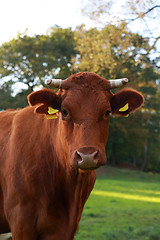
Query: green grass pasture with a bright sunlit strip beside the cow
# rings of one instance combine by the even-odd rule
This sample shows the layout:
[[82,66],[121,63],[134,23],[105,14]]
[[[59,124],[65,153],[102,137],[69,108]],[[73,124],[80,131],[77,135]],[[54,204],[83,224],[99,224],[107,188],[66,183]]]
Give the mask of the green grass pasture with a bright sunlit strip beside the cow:
[[101,168],[75,240],[160,240],[160,175]]

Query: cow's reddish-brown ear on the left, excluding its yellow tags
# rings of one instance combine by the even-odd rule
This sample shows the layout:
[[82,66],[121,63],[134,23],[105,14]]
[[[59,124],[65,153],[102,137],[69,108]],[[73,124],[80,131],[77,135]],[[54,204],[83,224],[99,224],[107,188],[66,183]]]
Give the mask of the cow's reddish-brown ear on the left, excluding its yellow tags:
[[37,105],[36,113],[47,114],[49,108],[60,110],[61,98],[51,89],[42,89],[28,95],[28,102],[31,106]]

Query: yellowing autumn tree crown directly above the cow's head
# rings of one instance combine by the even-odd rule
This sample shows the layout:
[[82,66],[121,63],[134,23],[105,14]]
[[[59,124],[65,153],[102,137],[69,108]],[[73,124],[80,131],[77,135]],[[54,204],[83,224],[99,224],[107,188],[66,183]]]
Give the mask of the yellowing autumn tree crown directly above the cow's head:
[[127,76],[136,82],[150,48],[147,39],[130,32],[124,24],[89,30],[82,25],[75,38],[79,56],[73,60],[74,69],[96,72],[110,79]]

